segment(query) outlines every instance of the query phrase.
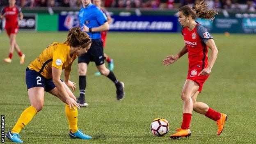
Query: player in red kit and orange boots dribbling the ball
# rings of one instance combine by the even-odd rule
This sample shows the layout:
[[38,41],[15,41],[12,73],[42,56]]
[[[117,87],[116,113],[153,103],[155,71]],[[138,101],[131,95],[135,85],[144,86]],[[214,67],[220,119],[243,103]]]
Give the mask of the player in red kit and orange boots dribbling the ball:
[[[185,81],[181,99],[183,100],[183,121],[181,128],[170,135],[170,138],[189,137],[190,121],[192,111],[204,114],[206,117],[217,121],[217,135],[222,133],[227,115],[216,112],[208,105],[197,101],[197,96],[201,92],[203,83],[209,77],[213,64],[217,58],[218,50],[213,37],[207,32],[206,28],[195,21],[197,17],[204,19],[214,19],[216,11],[208,9],[204,0],[194,7],[185,5],[178,10],[178,21],[183,27],[182,34],[185,46],[176,55],[169,55],[162,61],[165,66],[176,62],[185,53],[188,53],[189,70],[187,80]],[[211,49],[211,55],[208,63],[208,48]]]

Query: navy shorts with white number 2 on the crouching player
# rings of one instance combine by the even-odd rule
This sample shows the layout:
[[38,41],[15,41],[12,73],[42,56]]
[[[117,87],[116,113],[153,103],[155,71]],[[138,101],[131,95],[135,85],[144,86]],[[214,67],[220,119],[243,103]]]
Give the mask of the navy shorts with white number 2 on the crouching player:
[[[63,82],[62,79],[60,80]],[[28,67],[26,69],[26,84],[27,89],[32,87],[43,87],[46,92],[49,92],[56,87],[53,83],[53,78],[47,79],[37,71],[28,69]]]

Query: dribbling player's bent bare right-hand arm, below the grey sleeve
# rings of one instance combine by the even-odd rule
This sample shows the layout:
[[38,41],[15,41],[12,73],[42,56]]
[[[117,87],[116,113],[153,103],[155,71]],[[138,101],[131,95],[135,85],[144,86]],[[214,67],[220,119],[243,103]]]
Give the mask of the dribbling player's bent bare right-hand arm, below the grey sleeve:
[[211,55],[210,55],[210,60],[209,60],[209,64],[208,66],[203,69],[198,75],[208,75],[210,74],[210,72],[212,71],[213,65],[217,59],[217,55],[218,55],[218,49],[215,45],[215,42],[213,39],[209,39],[208,41],[206,41],[206,45],[208,46],[208,48],[211,49]]

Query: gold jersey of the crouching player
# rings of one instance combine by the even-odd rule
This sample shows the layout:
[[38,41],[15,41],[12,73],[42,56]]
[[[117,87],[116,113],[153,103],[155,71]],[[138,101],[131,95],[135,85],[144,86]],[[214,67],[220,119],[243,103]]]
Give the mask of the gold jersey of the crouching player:
[[57,69],[66,69],[73,64],[77,55],[70,57],[70,46],[64,43],[53,42],[28,66],[45,78],[53,78],[52,66]]

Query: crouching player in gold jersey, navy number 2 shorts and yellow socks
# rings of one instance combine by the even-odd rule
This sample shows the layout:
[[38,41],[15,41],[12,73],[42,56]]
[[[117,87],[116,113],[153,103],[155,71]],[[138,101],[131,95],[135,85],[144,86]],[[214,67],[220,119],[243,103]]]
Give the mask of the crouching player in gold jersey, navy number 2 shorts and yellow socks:
[[[25,109],[14,128],[6,136],[12,142],[23,143],[19,133],[42,110],[44,91],[57,96],[66,103],[66,117],[69,122],[69,137],[91,139],[78,130],[78,103],[71,89],[75,90],[75,83],[69,80],[74,60],[87,52],[91,46],[88,34],[82,32],[80,27],[69,30],[64,43],[53,42],[37,57],[26,69],[26,84],[30,107]],[[64,69],[65,82],[60,78]]]

